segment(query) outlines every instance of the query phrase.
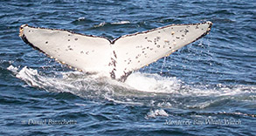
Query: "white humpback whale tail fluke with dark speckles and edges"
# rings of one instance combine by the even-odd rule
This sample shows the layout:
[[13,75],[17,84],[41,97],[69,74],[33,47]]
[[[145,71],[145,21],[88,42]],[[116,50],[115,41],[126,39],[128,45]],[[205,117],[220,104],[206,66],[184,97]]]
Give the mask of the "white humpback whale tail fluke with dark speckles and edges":
[[24,24],[19,36],[26,44],[74,70],[102,72],[125,81],[132,71],[204,37],[211,31],[211,25],[211,22],[170,24],[109,40]]

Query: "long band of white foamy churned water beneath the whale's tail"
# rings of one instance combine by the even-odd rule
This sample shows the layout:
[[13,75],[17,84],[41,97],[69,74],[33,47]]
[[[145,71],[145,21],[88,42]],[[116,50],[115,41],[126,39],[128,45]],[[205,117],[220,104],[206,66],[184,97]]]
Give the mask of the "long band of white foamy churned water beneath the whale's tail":
[[225,100],[255,100],[255,85],[187,85],[177,78],[134,72],[125,83],[100,74],[80,71],[38,71],[24,66],[7,68],[33,87],[47,92],[68,92],[86,99],[105,99],[127,105],[150,105],[161,108],[204,109]]

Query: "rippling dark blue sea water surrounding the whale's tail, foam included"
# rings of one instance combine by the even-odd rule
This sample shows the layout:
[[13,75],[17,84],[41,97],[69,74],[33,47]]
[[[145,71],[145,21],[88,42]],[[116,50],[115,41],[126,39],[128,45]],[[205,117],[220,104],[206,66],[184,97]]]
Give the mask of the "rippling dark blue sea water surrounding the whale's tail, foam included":
[[[210,35],[125,83],[71,71],[18,37],[21,24],[114,38],[203,21]],[[256,135],[255,32],[253,0],[2,0],[0,135]]]

